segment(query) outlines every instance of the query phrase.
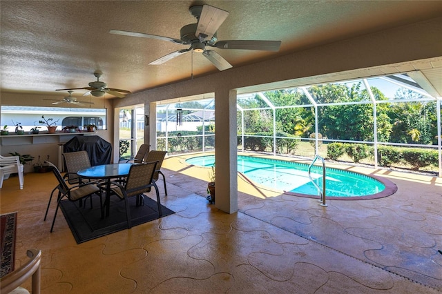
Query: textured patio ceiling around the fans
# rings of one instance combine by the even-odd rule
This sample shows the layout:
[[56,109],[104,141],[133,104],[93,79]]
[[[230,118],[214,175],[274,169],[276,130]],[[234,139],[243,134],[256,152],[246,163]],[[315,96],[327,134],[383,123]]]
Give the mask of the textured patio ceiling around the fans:
[[[230,12],[218,40],[280,40],[279,52],[215,49],[233,67],[442,14],[442,1],[0,1],[2,91],[81,88],[104,72],[110,88],[144,89],[218,70],[198,53],[149,62],[188,46],[111,35],[130,30],[180,39],[193,5]],[[440,36],[437,36],[440,38]],[[86,90],[77,92],[86,92]],[[108,95],[108,98],[112,96]]]

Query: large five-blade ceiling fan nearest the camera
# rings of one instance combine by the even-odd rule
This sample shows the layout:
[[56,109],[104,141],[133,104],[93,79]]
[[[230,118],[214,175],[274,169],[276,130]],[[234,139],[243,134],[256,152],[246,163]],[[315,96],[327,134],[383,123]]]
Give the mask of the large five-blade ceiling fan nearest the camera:
[[177,50],[168,55],[160,57],[149,64],[157,65],[169,61],[183,53],[193,50],[202,53],[204,57],[209,59],[218,70],[227,70],[231,68],[231,64],[218,54],[215,50],[208,50],[206,46],[218,49],[244,49],[244,50],[265,50],[278,51],[281,41],[257,41],[257,40],[229,40],[218,41],[216,32],[221,24],[229,15],[229,12],[215,8],[213,6],[191,6],[189,8],[191,14],[198,20],[197,23],[191,23],[183,26],[180,31],[180,39],[171,37],[162,37],[157,35],[144,34],[142,32],[128,32],[125,30],[110,30],[111,34],[125,35],[131,37],[144,37],[190,45],[187,49]]

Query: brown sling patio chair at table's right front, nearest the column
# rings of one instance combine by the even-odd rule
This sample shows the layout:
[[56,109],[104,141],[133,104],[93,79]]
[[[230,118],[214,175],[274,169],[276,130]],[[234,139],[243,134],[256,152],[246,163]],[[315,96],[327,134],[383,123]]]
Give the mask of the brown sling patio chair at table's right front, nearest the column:
[[158,193],[158,187],[155,184],[155,181],[153,181],[153,174],[155,173],[156,166],[157,161],[133,164],[124,184],[111,182],[111,184],[113,184],[113,192],[121,199],[124,199],[128,228],[132,227],[131,209],[129,207],[128,197],[137,197],[136,205],[140,206],[144,204],[144,193],[150,192],[152,187],[155,188],[155,193],[157,195],[158,215],[160,217],[162,216],[160,193]]

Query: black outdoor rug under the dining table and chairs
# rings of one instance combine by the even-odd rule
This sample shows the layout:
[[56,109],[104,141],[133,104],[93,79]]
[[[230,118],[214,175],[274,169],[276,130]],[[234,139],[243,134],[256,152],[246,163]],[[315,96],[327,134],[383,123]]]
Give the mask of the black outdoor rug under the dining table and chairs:
[[[72,231],[77,244],[90,241],[111,233],[122,231],[127,228],[126,206],[124,200],[119,197],[111,196],[111,209],[108,217],[101,218],[99,197],[93,196],[93,208],[90,209],[90,199],[86,199],[83,205],[79,207],[79,202],[70,202],[62,200],[60,204],[61,211],[68,222],[70,231]],[[105,196],[103,196],[104,202]],[[144,206],[135,206],[136,197],[129,197],[131,208],[132,226],[151,222],[159,219],[157,202],[149,197],[144,197]],[[166,206],[162,207],[162,216],[175,213]]]

